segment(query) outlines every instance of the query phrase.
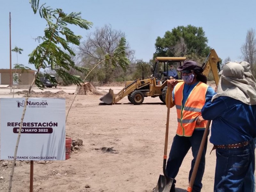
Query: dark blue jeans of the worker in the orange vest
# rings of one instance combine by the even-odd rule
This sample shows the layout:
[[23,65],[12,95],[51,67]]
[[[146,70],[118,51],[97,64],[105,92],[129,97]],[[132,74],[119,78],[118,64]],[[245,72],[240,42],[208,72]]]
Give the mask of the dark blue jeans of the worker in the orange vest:
[[[170,150],[169,158],[166,165],[166,174],[170,178],[175,178],[179,172],[180,165],[188,153],[188,150],[192,149],[193,160],[191,162],[191,169],[189,172],[188,181],[190,181],[191,174],[196,162],[196,156],[200,148],[201,140],[204,135],[204,130],[196,130],[193,132],[191,137],[184,137],[175,135],[172,142],[172,147]],[[196,174],[196,179],[193,185],[193,192],[200,192],[202,185],[202,178],[204,175],[204,166],[205,166],[205,153],[207,149],[207,139],[205,141],[203,154],[201,157],[201,161],[198,167],[198,171]],[[173,183],[175,183],[174,180]]]

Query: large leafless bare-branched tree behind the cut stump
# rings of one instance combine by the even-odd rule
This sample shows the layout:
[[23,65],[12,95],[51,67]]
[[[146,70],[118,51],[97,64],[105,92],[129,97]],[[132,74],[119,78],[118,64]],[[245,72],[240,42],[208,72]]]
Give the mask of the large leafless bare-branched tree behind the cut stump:
[[[92,68],[92,63],[99,63],[101,60],[104,60],[105,55],[113,56],[122,37],[125,37],[125,34],[120,30],[113,29],[111,25],[96,28],[93,33],[87,35],[87,40],[79,46],[78,54],[82,58],[84,66]],[[126,44],[125,47],[126,57],[129,60],[133,60],[134,50],[131,50],[129,44]],[[117,63],[116,67],[119,66]],[[113,78],[115,75],[114,71],[117,70],[109,62],[102,62],[96,69],[98,69],[98,74],[95,74],[97,72],[94,71],[89,79],[98,76],[103,83],[107,83]]]

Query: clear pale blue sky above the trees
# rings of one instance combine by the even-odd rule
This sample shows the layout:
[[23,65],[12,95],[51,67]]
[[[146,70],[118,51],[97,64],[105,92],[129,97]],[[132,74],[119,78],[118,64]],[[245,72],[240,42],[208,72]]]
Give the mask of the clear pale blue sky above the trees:
[[[240,47],[245,41],[248,29],[256,29],[255,0],[40,0],[53,9],[64,12],[82,12],[82,18],[92,21],[93,27],[72,28],[77,35],[85,36],[95,27],[111,24],[121,30],[126,40],[135,50],[136,59],[148,61],[155,52],[156,37],[163,37],[167,30],[177,26],[203,27],[208,45],[215,49],[223,60],[240,60]],[[9,12],[12,17],[12,49],[23,48],[18,55],[18,63],[28,65],[28,54],[36,47],[33,38],[42,36],[45,21],[34,14],[29,0],[2,1],[0,6],[0,68],[9,68]],[[12,65],[17,62],[12,52]]]

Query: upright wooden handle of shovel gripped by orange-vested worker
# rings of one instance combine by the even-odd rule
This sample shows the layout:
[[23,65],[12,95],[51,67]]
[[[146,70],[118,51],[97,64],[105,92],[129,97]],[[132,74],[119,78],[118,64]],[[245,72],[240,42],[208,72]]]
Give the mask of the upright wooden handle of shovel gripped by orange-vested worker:
[[167,146],[168,146],[168,133],[169,133],[169,119],[170,119],[170,106],[171,106],[171,94],[172,84],[168,87],[168,105],[167,105],[167,118],[166,118],[166,130],[165,130],[165,141],[164,141],[164,163],[163,163],[163,172],[166,177],[166,159],[167,159]]

